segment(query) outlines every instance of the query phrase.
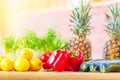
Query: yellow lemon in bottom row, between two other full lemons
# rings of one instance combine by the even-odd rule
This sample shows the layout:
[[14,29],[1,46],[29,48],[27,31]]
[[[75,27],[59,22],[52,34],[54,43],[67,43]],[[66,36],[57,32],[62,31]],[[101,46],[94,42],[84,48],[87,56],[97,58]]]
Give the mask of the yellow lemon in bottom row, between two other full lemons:
[[14,62],[14,69],[16,71],[28,71],[30,68],[30,63],[27,59],[24,58],[18,58]]

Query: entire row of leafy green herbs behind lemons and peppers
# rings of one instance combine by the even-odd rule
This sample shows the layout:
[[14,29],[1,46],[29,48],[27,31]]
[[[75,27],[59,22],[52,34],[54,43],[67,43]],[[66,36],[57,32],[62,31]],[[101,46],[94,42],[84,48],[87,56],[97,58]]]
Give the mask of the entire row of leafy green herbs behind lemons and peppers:
[[38,36],[33,30],[28,30],[22,37],[14,35],[4,37],[1,41],[5,53],[15,53],[20,48],[40,50],[41,53],[67,48],[68,41],[56,34],[56,30],[49,28],[43,36]]

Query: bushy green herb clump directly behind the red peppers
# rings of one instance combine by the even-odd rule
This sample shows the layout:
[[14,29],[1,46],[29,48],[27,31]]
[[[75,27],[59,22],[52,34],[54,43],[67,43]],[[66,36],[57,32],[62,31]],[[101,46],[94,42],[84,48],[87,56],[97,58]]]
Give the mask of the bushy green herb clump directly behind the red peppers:
[[41,37],[41,52],[54,51],[57,49],[63,49],[67,47],[67,40],[62,37],[58,37],[54,29],[48,29],[47,33]]

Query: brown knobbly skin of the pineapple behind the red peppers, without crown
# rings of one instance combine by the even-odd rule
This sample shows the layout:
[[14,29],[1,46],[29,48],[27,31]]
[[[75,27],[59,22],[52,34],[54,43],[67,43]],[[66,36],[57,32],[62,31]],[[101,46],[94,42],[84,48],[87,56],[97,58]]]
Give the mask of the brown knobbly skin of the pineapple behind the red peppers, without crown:
[[73,36],[69,41],[68,50],[71,52],[75,52],[76,50],[80,50],[84,54],[84,61],[91,60],[91,43],[83,36]]

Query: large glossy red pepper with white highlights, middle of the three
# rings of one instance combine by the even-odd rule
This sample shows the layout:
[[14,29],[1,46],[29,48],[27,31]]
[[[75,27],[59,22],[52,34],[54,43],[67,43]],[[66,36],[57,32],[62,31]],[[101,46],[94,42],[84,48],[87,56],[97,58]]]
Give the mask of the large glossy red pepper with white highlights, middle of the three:
[[52,53],[47,61],[47,66],[54,71],[64,71],[68,61],[70,60],[71,53],[67,50],[56,50]]

